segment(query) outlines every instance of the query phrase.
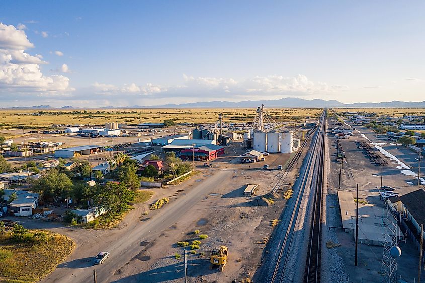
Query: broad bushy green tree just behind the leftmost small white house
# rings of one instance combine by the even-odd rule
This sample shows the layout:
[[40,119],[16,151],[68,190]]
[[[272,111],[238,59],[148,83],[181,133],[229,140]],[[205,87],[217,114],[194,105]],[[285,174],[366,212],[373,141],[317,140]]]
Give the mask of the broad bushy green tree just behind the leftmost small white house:
[[52,169],[46,175],[33,181],[32,190],[40,193],[45,199],[59,197],[69,197],[72,190],[72,181],[65,173],[59,173]]

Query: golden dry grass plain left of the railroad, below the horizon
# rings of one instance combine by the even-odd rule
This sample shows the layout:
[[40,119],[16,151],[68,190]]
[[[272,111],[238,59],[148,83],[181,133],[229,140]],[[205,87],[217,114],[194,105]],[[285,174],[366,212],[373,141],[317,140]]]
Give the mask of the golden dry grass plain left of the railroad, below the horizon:
[[[317,117],[320,108],[269,108],[267,112],[276,121],[299,121],[305,117]],[[1,110],[0,128],[49,128],[53,124],[104,125],[105,122],[137,124],[157,123],[172,119],[177,123],[214,123],[223,114],[226,123],[252,121],[256,109],[64,109],[64,110]]]

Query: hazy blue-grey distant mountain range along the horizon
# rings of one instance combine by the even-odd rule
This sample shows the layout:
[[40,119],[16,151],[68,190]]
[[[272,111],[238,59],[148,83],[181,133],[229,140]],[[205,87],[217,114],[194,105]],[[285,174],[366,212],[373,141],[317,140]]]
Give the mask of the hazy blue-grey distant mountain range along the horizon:
[[[284,108],[284,107],[355,107],[355,108],[425,108],[425,101],[415,102],[415,101],[391,101],[391,102],[359,102],[359,103],[342,103],[337,100],[323,100],[323,99],[313,99],[307,100],[302,98],[281,98],[275,100],[246,100],[240,102],[230,102],[230,101],[209,101],[209,102],[194,102],[194,103],[183,103],[183,104],[165,104],[165,105],[155,105],[155,106],[126,106],[126,107],[100,107],[96,109],[112,109],[112,108],[252,108],[258,107],[261,104],[264,106],[272,108]],[[61,108],[51,107],[50,105],[40,105],[32,107],[9,107],[3,109],[78,109],[73,106],[63,106]]]

